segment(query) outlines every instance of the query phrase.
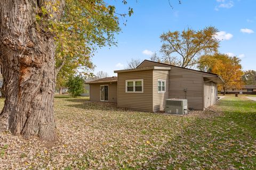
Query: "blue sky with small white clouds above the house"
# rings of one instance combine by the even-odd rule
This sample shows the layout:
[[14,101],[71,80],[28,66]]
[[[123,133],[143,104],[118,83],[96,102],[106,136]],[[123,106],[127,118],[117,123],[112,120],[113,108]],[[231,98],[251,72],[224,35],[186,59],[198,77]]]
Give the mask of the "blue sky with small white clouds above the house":
[[[255,0],[130,0],[127,5],[116,5],[117,12],[127,12],[131,6],[134,14],[127,17],[127,25],[116,36],[117,47],[99,49],[92,58],[94,73],[105,71],[116,75],[131,58],[145,60],[161,47],[159,36],[168,30],[181,31],[188,27],[198,30],[214,26],[219,37],[219,51],[241,57],[243,70],[256,70],[256,1]],[[121,20],[122,21],[122,20]]]

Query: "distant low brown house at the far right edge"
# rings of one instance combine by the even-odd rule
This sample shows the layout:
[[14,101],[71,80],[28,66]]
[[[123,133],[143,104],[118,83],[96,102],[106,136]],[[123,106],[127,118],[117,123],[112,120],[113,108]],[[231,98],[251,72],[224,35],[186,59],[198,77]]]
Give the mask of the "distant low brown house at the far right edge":
[[[221,90],[221,94],[224,93],[224,90]],[[244,85],[241,89],[229,88],[226,89],[226,94],[244,94],[244,95],[256,95],[256,85]]]

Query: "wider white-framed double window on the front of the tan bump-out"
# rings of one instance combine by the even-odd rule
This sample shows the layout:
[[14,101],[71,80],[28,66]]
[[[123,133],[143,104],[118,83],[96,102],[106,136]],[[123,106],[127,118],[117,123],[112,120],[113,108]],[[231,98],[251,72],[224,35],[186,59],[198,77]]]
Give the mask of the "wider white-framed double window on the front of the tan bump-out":
[[125,80],[125,92],[143,92],[143,79]]

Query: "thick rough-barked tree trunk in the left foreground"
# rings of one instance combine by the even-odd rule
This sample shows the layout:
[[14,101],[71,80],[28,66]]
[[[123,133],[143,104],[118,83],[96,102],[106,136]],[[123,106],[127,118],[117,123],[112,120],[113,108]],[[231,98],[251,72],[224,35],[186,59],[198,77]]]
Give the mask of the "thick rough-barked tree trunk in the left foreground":
[[0,60],[6,95],[0,130],[55,141],[55,45],[53,37],[36,29],[39,2],[0,0]]

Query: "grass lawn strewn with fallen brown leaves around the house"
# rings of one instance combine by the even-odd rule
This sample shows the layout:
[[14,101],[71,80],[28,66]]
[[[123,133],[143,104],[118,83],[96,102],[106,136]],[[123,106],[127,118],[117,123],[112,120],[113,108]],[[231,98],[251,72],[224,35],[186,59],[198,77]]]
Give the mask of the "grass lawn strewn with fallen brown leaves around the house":
[[87,100],[55,97],[59,140],[52,148],[0,133],[0,167],[256,169],[255,101],[227,96],[213,107],[221,114],[175,116]]

